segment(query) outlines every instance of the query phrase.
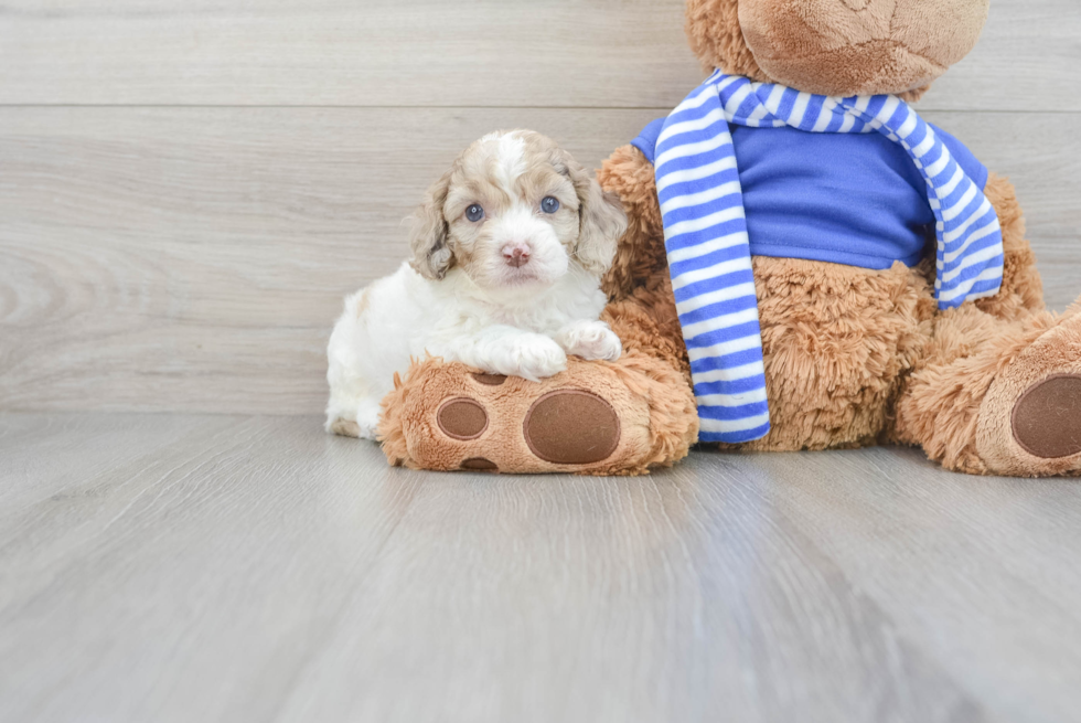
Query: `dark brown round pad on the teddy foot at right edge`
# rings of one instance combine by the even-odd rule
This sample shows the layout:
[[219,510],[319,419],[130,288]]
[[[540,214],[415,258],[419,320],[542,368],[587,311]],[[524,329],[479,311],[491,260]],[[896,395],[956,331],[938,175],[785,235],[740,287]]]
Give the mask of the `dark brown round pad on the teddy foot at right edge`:
[[1030,386],[1014,406],[1014,438],[1042,459],[1081,453],[1081,376],[1056,374]]

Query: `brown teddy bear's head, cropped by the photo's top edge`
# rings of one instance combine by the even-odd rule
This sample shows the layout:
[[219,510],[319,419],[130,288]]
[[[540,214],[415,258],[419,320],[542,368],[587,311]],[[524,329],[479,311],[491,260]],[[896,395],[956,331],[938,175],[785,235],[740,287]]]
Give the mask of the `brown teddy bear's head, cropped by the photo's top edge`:
[[822,95],[919,97],[968,54],[989,0],[687,0],[709,70]]

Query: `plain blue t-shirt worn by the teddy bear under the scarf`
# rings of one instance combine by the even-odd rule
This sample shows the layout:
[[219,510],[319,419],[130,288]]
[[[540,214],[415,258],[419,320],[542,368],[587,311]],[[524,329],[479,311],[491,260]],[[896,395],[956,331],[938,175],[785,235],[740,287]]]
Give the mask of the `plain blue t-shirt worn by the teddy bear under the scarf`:
[[[653,162],[664,118],[632,141]],[[987,169],[932,126],[983,189]],[[881,134],[813,134],[731,125],[753,256],[884,269],[914,266],[934,244],[928,185],[911,157]]]

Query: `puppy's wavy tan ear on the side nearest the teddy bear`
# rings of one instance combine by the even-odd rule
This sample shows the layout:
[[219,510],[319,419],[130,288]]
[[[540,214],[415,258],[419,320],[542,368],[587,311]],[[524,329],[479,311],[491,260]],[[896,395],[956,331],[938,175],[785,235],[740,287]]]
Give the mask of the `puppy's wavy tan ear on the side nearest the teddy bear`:
[[586,270],[601,276],[616,257],[616,247],[627,231],[627,214],[614,193],[600,188],[596,177],[577,161],[566,161],[578,193],[578,245],[575,256]]

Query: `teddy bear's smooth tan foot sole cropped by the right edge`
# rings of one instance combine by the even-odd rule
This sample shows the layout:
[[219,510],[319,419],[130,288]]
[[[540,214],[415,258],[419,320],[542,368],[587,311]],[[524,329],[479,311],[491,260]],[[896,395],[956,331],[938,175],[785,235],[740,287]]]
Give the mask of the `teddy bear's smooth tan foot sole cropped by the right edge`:
[[1043,332],[995,379],[976,445],[995,474],[1081,474],[1081,313]]

